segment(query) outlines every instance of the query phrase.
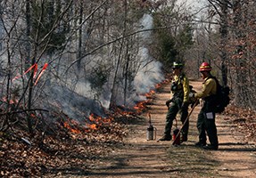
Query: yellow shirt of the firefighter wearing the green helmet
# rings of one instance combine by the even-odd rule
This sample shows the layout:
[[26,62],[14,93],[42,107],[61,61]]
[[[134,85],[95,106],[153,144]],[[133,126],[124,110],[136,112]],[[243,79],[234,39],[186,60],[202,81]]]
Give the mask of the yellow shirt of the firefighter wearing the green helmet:
[[180,76],[174,76],[174,82],[178,85],[178,91],[172,91],[173,94],[183,90],[183,102],[189,101],[189,80],[185,76],[185,74],[181,74]]

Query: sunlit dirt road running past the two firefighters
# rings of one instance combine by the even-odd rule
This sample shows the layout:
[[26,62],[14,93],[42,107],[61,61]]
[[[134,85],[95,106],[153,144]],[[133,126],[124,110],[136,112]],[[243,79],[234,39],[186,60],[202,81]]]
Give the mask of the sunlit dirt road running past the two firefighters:
[[[191,81],[195,90],[201,89],[201,82]],[[169,85],[155,93],[149,106],[157,138],[163,133],[169,98]],[[92,167],[88,177],[256,177],[256,152],[253,143],[244,143],[243,135],[235,127],[217,116],[219,150],[202,150],[194,147],[197,142],[196,117],[200,106],[191,115],[188,142],[173,146],[171,142],[146,141],[145,122],[131,125],[134,129],[126,139],[124,149],[113,150],[111,155]],[[178,124],[180,121],[178,120]]]

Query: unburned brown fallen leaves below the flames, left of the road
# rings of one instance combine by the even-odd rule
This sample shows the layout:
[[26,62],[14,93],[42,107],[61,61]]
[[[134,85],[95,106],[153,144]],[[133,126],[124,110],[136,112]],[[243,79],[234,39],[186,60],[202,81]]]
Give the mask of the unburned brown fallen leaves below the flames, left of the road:
[[[135,118],[133,116],[130,119]],[[117,117],[117,120],[122,119],[129,118]],[[87,174],[88,168],[97,165],[99,158],[118,145],[123,145],[122,141],[128,134],[128,128],[112,120],[111,123],[101,125],[97,130],[85,132],[80,129],[80,132],[73,133],[56,119],[45,133],[42,134],[42,130],[38,129],[31,137],[19,125],[2,133],[0,177],[34,177],[65,172]],[[24,142],[24,138],[31,144]]]

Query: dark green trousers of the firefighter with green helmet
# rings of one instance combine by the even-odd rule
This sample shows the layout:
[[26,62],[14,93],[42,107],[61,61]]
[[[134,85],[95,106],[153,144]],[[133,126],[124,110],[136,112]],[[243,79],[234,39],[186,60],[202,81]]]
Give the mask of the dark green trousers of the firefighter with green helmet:
[[[182,107],[182,99],[176,98],[169,104],[169,109],[166,115],[166,124],[165,124],[165,130],[164,135],[166,137],[171,137],[171,127],[173,124],[173,120],[177,117],[178,111],[180,111],[180,120],[182,124],[184,125],[181,134],[183,138],[187,138],[188,134],[188,128],[189,128],[189,120],[186,120],[186,117],[188,115],[188,106]],[[186,121],[186,123],[185,123]]]

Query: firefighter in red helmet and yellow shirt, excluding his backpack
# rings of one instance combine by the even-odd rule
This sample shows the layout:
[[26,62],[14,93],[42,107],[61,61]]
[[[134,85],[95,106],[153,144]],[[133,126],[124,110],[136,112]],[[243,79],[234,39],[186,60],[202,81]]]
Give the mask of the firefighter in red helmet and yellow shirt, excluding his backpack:
[[[206,150],[218,150],[219,142],[214,112],[214,96],[217,92],[217,83],[211,76],[211,65],[209,63],[202,62],[199,71],[204,80],[202,83],[202,91],[194,93],[192,96],[195,99],[202,99],[202,109],[197,118],[199,142],[196,142],[195,145]],[[206,145],[206,133],[211,143],[209,145]]]

